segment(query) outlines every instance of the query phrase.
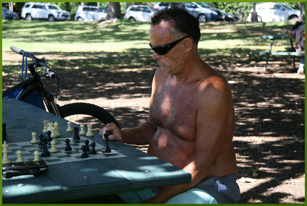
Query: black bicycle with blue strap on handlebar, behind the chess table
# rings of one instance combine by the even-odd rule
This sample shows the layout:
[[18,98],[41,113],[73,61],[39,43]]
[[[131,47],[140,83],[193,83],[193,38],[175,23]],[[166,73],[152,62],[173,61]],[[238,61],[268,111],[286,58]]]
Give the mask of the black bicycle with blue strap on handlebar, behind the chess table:
[[[35,95],[36,92],[38,98],[43,99],[43,103],[45,107],[47,107],[48,112],[57,115],[59,117],[62,117],[64,119],[67,119],[71,122],[74,122],[76,124],[84,124],[85,126],[88,123],[91,123],[93,124],[93,130],[100,129],[102,127],[101,122],[103,124],[114,122],[116,125],[119,126],[119,123],[108,111],[97,105],[90,103],[70,103],[63,106],[59,106],[58,104],[56,104],[54,96],[48,91],[46,91],[45,85],[41,81],[42,76],[45,76],[47,79],[56,78],[59,81],[60,78],[55,68],[52,66],[51,69],[48,66],[45,57],[39,59],[35,57],[33,54],[25,52],[24,50],[19,49],[15,46],[11,46],[10,49],[18,54],[23,55],[23,57],[25,57],[26,60],[28,57],[33,60],[31,64],[28,64],[25,67],[29,68],[31,76],[28,79],[26,79],[27,71],[25,70],[25,80],[22,81],[23,77],[23,70],[22,70],[21,82],[3,91],[2,98],[8,98],[13,95],[14,99],[25,101],[27,97],[29,99],[29,97],[31,97],[31,95],[33,96],[33,93]],[[44,69],[37,72],[38,67],[44,67]],[[41,76],[39,76],[38,73],[41,71],[45,72]]]

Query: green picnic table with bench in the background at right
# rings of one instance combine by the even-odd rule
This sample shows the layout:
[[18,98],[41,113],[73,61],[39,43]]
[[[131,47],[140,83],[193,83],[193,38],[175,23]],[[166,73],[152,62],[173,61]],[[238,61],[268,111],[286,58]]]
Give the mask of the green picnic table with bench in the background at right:
[[[301,54],[297,53],[295,51],[295,48],[293,47],[292,39],[294,39],[295,36],[293,37],[293,36],[288,36],[288,35],[285,35],[285,34],[279,34],[279,35],[262,36],[260,38],[261,39],[270,39],[271,40],[271,45],[270,45],[269,51],[268,52],[267,51],[253,51],[253,52],[250,52],[250,54],[267,55],[266,64],[264,66],[263,73],[266,72],[266,66],[268,64],[268,61],[269,61],[269,58],[270,58],[271,55],[272,56],[274,56],[274,55],[278,55],[278,56],[292,56],[292,58],[293,58],[293,68],[295,69],[295,56],[301,56]],[[275,39],[290,39],[291,47],[286,47],[285,51],[271,52],[272,46],[273,46],[273,43],[274,43]]]

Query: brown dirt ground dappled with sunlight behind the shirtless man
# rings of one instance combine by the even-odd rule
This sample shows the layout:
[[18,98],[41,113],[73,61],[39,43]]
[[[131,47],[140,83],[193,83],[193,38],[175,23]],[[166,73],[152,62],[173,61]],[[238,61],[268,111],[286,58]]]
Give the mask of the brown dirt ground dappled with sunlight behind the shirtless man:
[[[239,203],[304,204],[305,75],[293,70],[291,58],[270,60],[266,74],[261,57],[220,59],[205,61],[227,78],[233,94]],[[57,103],[93,103],[114,115],[122,129],[133,128],[148,117],[153,74],[149,68],[66,72]],[[48,81],[55,93],[55,83]]]

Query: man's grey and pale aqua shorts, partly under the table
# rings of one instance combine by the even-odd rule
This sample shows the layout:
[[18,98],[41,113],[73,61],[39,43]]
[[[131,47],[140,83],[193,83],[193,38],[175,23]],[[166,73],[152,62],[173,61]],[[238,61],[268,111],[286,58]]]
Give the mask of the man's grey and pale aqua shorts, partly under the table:
[[[236,179],[236,174],[221,178],[211,177],[194,188],[172,197],[165,204],[235,204],[240,198],[240,189]],[[136,204],[155,196],[158,191],[158,188],[147,188],[118,195],[126,203]]]

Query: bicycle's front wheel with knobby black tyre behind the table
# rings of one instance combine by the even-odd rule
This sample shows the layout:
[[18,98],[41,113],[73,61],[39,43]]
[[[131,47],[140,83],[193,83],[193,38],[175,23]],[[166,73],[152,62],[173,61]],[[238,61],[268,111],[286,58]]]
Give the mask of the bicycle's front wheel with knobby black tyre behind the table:
[[71,103],[60,107],[62,118],[76,124],[88,123],[93,125],[92,130],[99,132],[107,123],[114,122],[117,126],[119,123],[105,109],[90,103]]

